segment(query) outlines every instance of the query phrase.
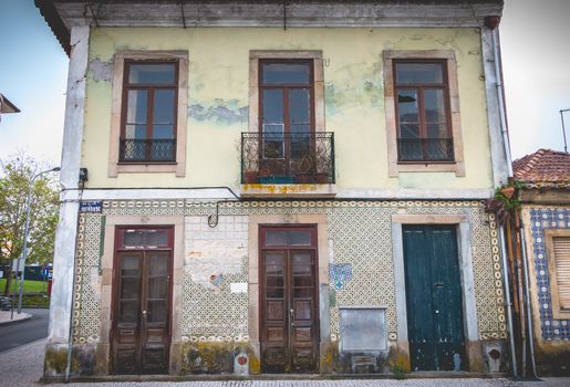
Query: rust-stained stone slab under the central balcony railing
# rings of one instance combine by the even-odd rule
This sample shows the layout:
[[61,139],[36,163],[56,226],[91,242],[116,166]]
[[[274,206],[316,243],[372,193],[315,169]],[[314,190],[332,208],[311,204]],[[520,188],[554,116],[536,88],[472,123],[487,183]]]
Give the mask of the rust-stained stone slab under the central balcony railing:
[[335,184],[243,184],[241,197],[311,198],[336,196]]

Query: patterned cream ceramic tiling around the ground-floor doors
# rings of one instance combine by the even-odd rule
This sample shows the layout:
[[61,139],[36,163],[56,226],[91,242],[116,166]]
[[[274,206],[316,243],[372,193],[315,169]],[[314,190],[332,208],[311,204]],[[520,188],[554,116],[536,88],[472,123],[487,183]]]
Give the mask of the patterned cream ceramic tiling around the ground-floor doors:
[[[208,216],[218,226],[210,229]],[[101,297],[100,236],[105,215],[159,216],[184,215],[186,253],[191,243],[222,241],[228,232],[236,243],[242,240],[243,224],[250,215],[325,213],[328,216],[331,293],[331,335],[338,337],[339,306],[385,306],[388,338],[396,341],[394,269],[392,261],[391,216],[465,215],[471,228],[471,257],[479,337],[505,338],[502,281],[498,255],[495,218],[477,201],[243,201],[196,202],[184,200],[105,201],[103,213],[83,213],[77,243],[77,295],[75,296],[75,342],[96,341],[100,334]],[[239,226],[236,226],[239,224]],[[231,230],[230,230],[231,228]],[[238,229],[236,229],[238,228]],[[191,230],[195,229],[195,230]],[[194,233],[193,233],[194,231]],[[201,237],[195,238],[194,234]],[[206,236],[208,234],[208,236]],[[211,237],[209,237],[211,236]],[[243,241],[247,242],[247,241]],[[200,244],[199,242],[198,244]],[[204,243],[203,243],[204,244]],[[245,250],[247,251],[247,249]],[[247,257],[239,257],[239,270],[211,273],[211,283],[193,279],[185,271],[183,279],[183,339],[247,339],[247,293],[232,292],[232,284],[247,282]],[[232,260],[232,264],[236,264]],[[349,270],[350,268],[350,270]],[[350,272],[350,273],[349,273]],[[89,273],[85,275],[85,273]],[[336,280],[342,282],[336,286]],[[201,281],[201,282],[200,282]]]

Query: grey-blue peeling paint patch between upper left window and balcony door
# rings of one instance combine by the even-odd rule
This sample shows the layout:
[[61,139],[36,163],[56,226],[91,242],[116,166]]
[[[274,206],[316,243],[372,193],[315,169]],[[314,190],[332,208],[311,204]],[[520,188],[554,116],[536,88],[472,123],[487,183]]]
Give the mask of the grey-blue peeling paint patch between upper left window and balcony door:
[[239,106],[238,100],[214,100],[210,106],[194,104],[188,107],[188,117],[196,121],[214,121],[221,124],[242,124],[248,121],[248,106]]

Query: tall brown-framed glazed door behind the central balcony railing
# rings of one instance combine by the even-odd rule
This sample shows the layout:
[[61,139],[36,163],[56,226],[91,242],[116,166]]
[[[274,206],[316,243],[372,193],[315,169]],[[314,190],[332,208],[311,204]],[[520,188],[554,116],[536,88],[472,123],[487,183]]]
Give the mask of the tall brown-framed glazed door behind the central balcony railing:
[[[313,149],[313,63],[310,60],[260,61],[260,169],[290,178]],[[313,163],[305,160],[307,172]],[[291,170],[293,169],[293,170]],[[276,181],[292,182],[292,181]]]

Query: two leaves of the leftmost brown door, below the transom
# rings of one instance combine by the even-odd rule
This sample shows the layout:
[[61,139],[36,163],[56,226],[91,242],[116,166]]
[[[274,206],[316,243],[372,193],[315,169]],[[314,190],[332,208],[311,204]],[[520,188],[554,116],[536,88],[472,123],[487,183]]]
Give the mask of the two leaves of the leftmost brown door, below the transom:
[[170,342],[170,252],[118,253],[113,327],[115,374],[167,372]]

